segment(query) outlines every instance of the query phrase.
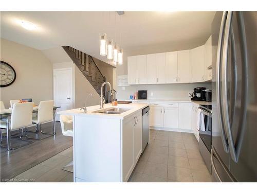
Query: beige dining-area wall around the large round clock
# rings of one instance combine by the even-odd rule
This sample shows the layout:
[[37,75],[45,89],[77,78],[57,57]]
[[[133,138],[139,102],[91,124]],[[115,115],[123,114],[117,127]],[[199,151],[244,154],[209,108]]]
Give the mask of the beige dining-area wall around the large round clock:
[[10,107],[11,99],[32,98],[36,104],[53,99],[52,63],[41,50],[1,38],[1,60],[16,72],[16,80],[1,87],[1,100]]

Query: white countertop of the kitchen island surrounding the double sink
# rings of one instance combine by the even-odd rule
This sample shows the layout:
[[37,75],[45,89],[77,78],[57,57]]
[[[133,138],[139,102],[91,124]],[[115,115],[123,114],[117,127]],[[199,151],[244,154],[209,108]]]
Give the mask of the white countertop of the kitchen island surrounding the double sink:
[[[104,104],[104,108],[100,109],[100,105],[87,107],[87,113],[83,113],[83,110],[79,109],[71,109],[67,111],[59,111],[57,114],[59,115],[72,115],[72,116],[91,116],[91,117],[98,117],[98,118],[110,118],[110,119],[124,119],[131,114],[142,111],[143,108],[149,106],[148,103],[130,103],[130,104],[118,104],[118,106],[112,106],[111,103]],[[107,111],[108,109],[112,108],[127,108],[130,109],[126,112],[120,114],[105,114],[105,113],[97,113],[99,110]],[[97,112],[95,112],[97,111]]]

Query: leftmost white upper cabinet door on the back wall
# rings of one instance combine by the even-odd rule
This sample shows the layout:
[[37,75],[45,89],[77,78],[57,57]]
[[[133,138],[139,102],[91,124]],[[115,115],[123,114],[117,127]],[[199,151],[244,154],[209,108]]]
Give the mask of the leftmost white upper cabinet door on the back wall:
[[137,56],[127,57],[128,84],[137,84]]

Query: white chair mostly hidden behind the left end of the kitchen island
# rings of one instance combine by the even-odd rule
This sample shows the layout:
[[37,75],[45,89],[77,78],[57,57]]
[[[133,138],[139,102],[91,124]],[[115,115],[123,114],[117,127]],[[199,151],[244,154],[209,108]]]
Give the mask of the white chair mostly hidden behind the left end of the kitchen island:
[[[60,115],[61,129],[64,136],[73,137],[73,116]],[[63,170],[73,172],[73,161],[62,168]]]

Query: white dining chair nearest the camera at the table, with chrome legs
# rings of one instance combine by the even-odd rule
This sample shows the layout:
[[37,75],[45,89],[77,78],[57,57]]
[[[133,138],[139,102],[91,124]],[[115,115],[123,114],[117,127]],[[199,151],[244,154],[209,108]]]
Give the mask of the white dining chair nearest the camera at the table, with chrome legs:
[[[23,147],[25,145],[33,143],[32,141],[28,141],[28,140],[22,138],[23,137],[23,129],[25,129],[25,131],[26,131],[27,127],[32,125],[31,124],[32,111],[33,111],[33,103],[32,102],[14,103],[13,104],[11,123],[10,123],[10,132],[14,131],[14,130],[19,130],[19,139],[22,141],[26,141],[28,143],[19,145],[16,147],[11,147],[11,149],[16,149],[16,148]],[[7,130],[6,122],[3,124],[3,122],[1,121],[0,129]],[[26,135],[27,135],[27,133],[26,133]],[[1,144],[2,144],[2,140],[1,140]],[[1,146],[1,147],[6,147],[6,146]]]

